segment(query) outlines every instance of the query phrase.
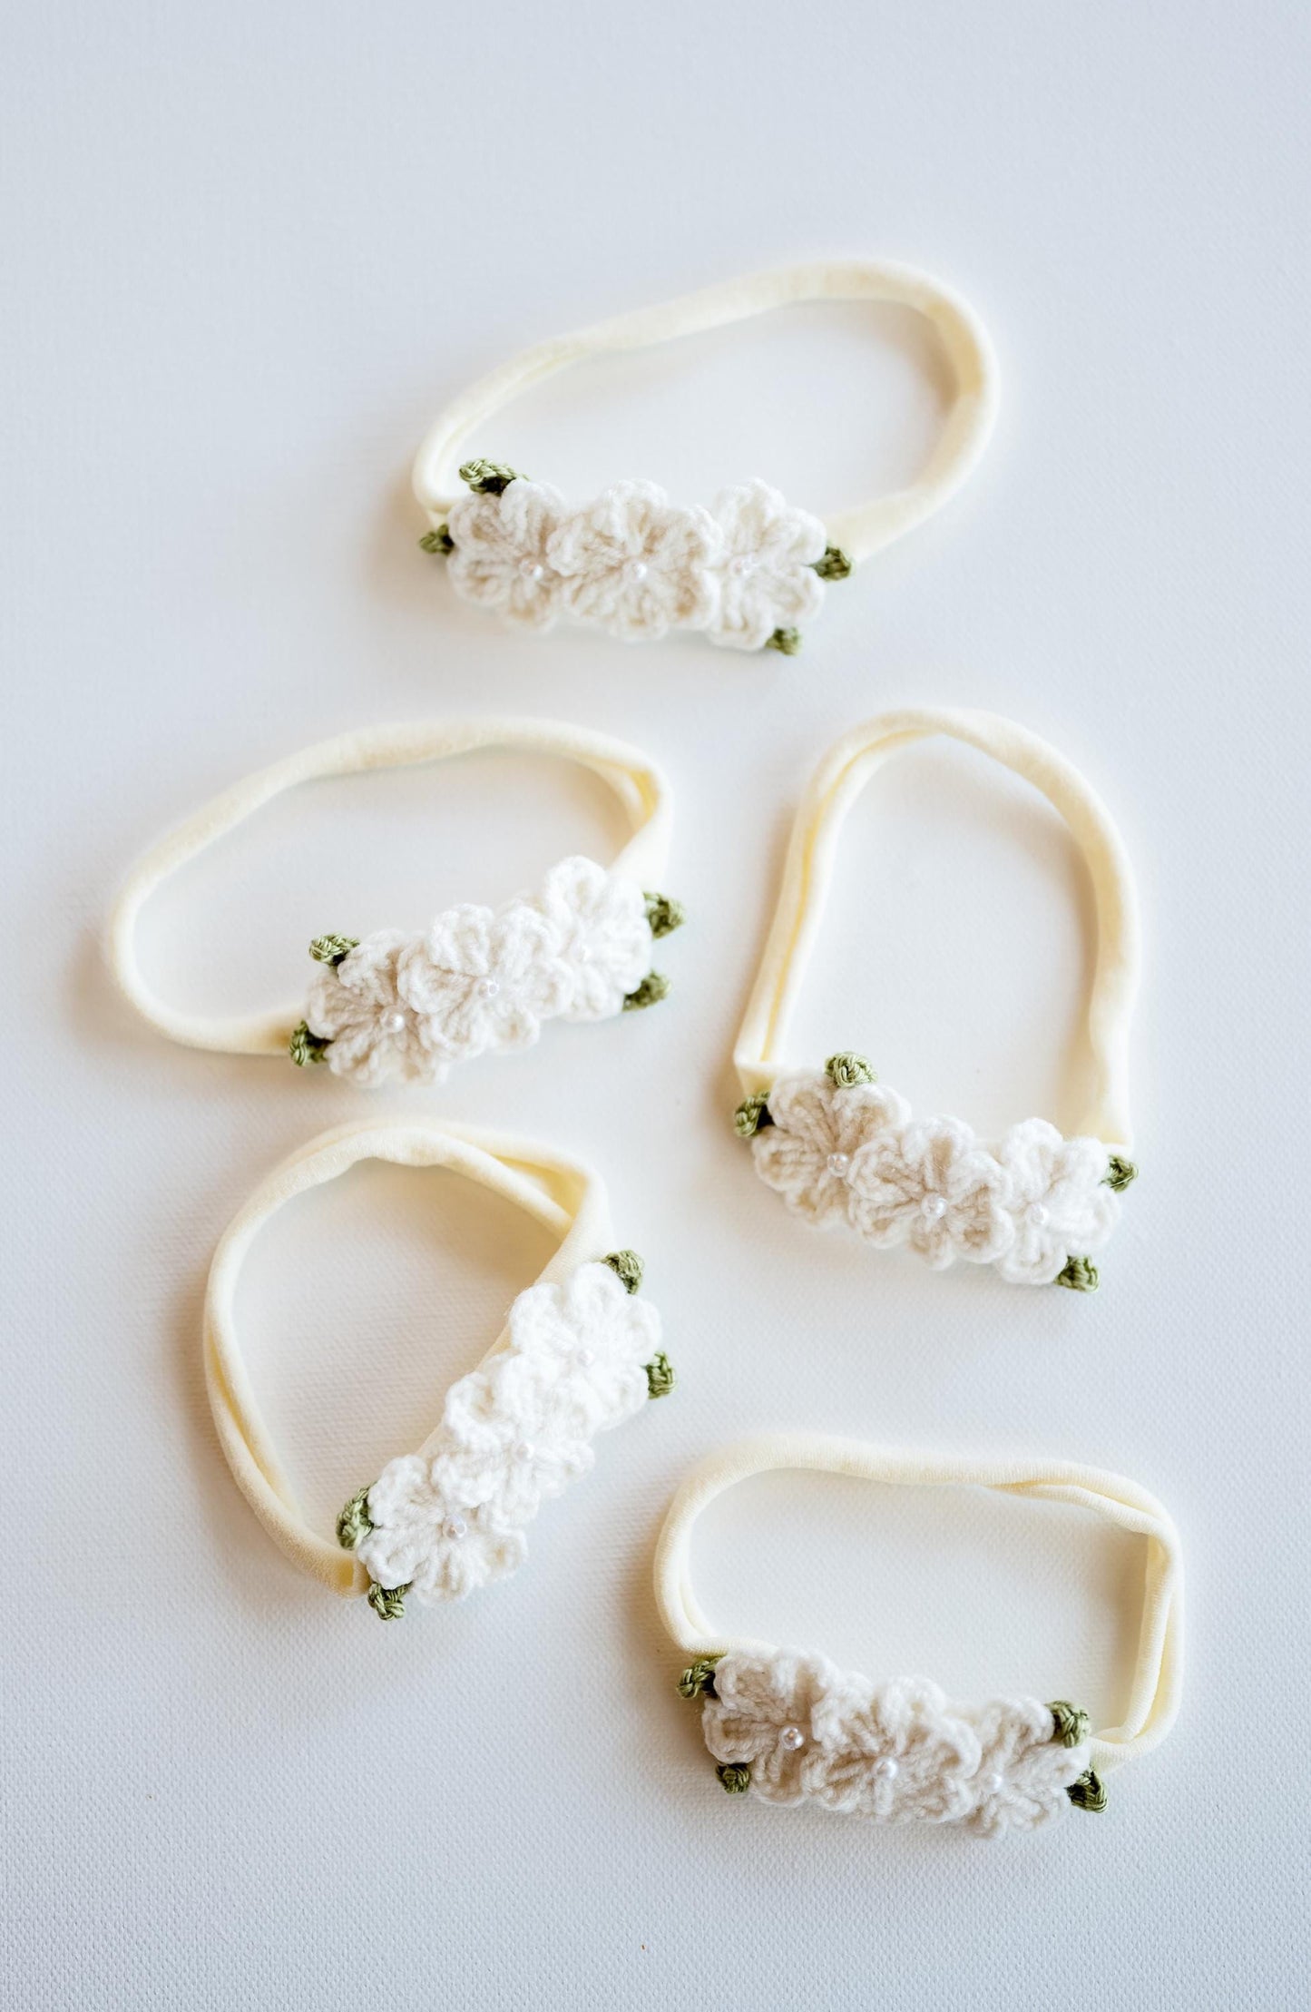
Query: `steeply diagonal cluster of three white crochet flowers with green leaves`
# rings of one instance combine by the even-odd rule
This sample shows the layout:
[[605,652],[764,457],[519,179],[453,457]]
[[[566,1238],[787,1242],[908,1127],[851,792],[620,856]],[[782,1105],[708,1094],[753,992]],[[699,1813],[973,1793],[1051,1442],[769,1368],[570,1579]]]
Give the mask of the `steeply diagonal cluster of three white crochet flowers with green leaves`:
[[422,1453],[390,1461],[338,1519],[386,1620],[515,1571],[543,1501],[593,1463],[591,1439],[674,1386],[660,1314],[633,1298],[641,1260],[617,1251],[521,1292],[509,1340],[446,1392]]

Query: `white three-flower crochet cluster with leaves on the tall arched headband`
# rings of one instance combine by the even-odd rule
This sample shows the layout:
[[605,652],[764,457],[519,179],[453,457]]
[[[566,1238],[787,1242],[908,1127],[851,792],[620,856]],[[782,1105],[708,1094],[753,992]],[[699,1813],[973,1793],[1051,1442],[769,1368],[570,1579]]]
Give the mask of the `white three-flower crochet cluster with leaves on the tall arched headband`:
[[760,1179],[816,1227],[849,1223],[877,1249],[909,1245],[935,1272],[957,1258],[1021,1286],[1096,1288],[1134,1167],[1100,1139],[1025,1119],[995,1151],[961,1119],[915,1119],[863,1056],[784,1076],[738,1107]]

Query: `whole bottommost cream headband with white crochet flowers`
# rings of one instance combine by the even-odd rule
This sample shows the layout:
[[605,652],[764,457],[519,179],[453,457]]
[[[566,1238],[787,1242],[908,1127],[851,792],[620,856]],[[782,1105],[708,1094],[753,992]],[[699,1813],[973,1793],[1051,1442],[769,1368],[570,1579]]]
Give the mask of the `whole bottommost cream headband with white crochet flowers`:
[[[1068,1700],[951,1704],[925,1678],[875,1684],[824,1656],[712,1628],[692,1591],[692,1525],[748,1475],[818,1469],[911,1487],[961,1483],[1078,1503],[1146,1537],[1138,1662],[1124,1720],[1090,1732]],[[746,1439],[696,1467],[670,1505],[656,1551],[662,1620],[694,1662],[678,1688],[702,1700],[702,1732],[730,1795],[820,1803],[875,1823],[965,1823],[1029,1831],[1076,1809],[1106,1809],[1102,1775],[1166,1736],[1178,1710],[1182,1571],[1174,1527],[1146,1489],[1068,1461],[959,1461],[794,1433]]]

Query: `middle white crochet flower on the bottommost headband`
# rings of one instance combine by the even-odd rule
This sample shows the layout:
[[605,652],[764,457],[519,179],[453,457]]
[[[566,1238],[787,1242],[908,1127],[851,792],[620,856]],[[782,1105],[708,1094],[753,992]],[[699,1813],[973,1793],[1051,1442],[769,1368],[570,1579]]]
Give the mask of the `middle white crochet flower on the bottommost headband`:
[[[877,1823],[953,1823],[973,1807],[979,1738],[927,1678],[897,1678],[851,1702],[834,1688],[814,1714],[828,1760],[810,1793]],[[1050,1714],[1048,1714],[1050,1716]]]

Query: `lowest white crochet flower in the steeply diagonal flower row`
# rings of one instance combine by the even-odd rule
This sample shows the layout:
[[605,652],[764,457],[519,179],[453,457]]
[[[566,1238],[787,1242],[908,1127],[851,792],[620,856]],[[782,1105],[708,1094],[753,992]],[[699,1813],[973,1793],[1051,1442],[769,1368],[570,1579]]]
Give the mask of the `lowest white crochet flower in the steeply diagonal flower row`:
[[368,1491],[374,1527],[356,1545],[368,1575],[386,1587],[410,1585],[420,1600],[462,1600],[515,1571],[527,1543],[499,1527],[485,1479],[458,1457],[390,1461]]

